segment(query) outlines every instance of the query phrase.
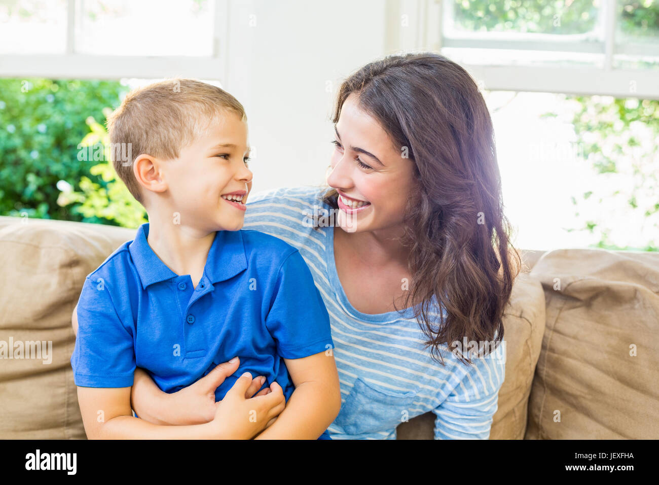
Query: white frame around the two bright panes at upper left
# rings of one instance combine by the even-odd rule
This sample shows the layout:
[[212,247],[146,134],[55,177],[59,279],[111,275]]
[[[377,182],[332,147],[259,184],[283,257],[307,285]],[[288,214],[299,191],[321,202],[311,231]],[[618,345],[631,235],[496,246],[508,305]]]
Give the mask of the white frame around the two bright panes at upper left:
[[74,49],[76,0],[67,1],[67,45],[63,54],[0,55],[0,77],[52,79],[161,79],[183,76],[221,81],[226,72],[229,2],[212,0],[210,56],[78,54]]

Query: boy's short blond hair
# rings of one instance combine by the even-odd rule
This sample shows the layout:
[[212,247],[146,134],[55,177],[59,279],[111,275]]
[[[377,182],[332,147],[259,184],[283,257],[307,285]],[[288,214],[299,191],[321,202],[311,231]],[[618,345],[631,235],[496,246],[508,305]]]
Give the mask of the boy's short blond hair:
[[[225,90],[196,79],[167,79],[130,92],[107,119],[115,171],[144,203],[132,162],[140,154],[177,158],[227,110],[246,121],[243,105]],[[126,148],[128,147],[128,149]],[[122,156],[131,154],[130,160]]]

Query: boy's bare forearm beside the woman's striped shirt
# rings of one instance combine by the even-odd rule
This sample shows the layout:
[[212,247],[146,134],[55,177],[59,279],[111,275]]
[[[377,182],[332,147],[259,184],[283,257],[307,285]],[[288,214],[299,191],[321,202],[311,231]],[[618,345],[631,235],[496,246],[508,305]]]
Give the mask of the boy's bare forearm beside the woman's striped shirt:
[[318,439],[338,416],[341,400],[320,382],[295,388],[272,426],[254,439]]

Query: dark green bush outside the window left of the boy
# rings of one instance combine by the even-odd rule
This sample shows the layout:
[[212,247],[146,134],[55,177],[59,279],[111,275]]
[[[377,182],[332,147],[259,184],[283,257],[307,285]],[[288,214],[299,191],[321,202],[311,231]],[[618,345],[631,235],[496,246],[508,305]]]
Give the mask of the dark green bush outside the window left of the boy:
[[85,120],[105,119],[103,108],[119,106],[126,90],[116,81],[0,79],[0,214],[83,220],[57,204],[57,183],[90,174],[97,162],[78,160]]

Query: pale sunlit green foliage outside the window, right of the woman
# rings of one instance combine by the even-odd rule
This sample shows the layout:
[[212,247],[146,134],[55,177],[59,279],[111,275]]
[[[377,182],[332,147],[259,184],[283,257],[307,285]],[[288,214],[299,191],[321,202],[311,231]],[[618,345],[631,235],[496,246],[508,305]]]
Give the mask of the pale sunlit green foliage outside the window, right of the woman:
[[[595,175],[574,195],[579,228],[597,236],[604,249],[659,251],[659,101],[613,99],[608,96],[572,99],[579,103],[573,125],[583,158]],[[599,176],[599,177],[598,177]],[[598,191],[586,184],[608,177],[613,189]],[[616,201],[629,220],[640,221],[635,234],[645,234],[638,245],[620,247],[610,240],[612,221],[602,201]],[[609,204],[611,205],[611,204]]]

